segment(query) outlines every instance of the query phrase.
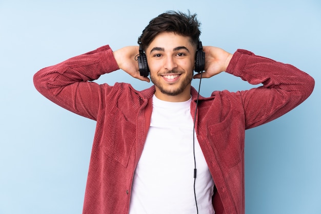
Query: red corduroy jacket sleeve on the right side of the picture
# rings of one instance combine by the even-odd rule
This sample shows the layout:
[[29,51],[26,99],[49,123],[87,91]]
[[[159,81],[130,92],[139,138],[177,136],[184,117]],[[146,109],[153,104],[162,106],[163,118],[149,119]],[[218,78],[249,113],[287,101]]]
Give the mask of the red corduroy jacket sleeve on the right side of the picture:
[[237,92],[243,104],[246,129],[274,120],[307,99],[314,79],[294,66],[237,50],[227,71],[250,84],[263,86]]

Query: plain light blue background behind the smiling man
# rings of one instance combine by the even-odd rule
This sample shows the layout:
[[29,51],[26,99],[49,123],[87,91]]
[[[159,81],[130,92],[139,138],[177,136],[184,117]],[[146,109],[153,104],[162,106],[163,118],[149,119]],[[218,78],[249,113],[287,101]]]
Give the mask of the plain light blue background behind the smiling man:
[[[0,213],[82,212],[95,122],[44,98],[33,74],[106,44],[136,45],[151,18],[188,9],[202,22],[203,45],[247,49],[315,78],[303,104],[246,132],[246,213],[321,213],[318,0],[0,0]],[[116,81],[151,85],[123,71],[98,80]],[[203,79],[200,94],[250,87],[223,73]]]

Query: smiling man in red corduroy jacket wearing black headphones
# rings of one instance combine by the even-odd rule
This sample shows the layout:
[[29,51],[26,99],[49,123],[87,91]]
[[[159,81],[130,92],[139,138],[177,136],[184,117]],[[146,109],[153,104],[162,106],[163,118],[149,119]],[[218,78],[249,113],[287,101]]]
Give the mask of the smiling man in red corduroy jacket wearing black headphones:
[[[245,130],[302,103],[314,80],[246,50],[205,46],[203,61],[199,35],[195,14],[170,11],[139,47],[104,46],[35,74],[40,93],[97,121],[83,213],[245,212]],[[92,82],[118,69],[154,85]],[[192,78],[223,71],[263,86],[198,97]]]

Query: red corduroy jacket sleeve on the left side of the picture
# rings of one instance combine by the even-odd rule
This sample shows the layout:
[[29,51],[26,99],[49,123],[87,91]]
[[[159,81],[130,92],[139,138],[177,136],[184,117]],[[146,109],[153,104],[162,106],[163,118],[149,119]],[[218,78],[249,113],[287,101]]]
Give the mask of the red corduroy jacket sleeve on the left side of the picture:
[[104,94],[110,92],[112,87],[92,81],[118,69],[111,48],[103,46],[38,71],[33,82],[35,88],[49,100],[96,120]]

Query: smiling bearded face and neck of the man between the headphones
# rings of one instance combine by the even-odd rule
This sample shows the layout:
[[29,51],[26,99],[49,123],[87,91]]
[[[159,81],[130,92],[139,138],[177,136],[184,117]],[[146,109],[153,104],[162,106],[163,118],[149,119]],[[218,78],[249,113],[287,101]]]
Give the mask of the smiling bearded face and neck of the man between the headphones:
[[191,97],[195,52],[189,37],[163,32],[154,38],[145,53],[158,99],[180,102]]

